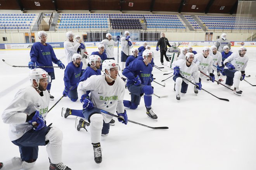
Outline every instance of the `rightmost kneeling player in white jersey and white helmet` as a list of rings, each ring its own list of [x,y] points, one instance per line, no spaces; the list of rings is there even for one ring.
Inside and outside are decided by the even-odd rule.
[[[236,95],[242,94],[242,91],[239,90],[239,83],[240,81],[244,80],[245,68],[249,60],[249,58],[245,56],[246,51],[246,47],[241,46],[238,50],[238,53],[232,53],[227,59],[223,61],[225,65],[223,72],[227,76],[226,85],[231,87],[234,82],[234,93]]]

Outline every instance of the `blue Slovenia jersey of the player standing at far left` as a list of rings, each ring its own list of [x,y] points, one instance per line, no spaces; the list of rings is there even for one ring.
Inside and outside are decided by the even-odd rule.
[[[54,53],[52,46],[45,43],[44,46],[41,42],[35,42],[30,50],[31,61],[36,63],[36,66],[53,66],[52,62],[57,63],[58,59]],[[47,73],[54,72],[54,68],[43,68]]]

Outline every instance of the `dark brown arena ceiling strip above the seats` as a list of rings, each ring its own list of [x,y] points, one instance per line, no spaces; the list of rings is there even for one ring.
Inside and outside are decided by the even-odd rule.
[[[0,0],[0,10],[118,10],[235,14],[237,0]]]

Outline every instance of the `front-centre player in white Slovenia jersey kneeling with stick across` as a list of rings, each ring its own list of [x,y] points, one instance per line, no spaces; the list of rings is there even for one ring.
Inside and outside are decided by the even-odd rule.
[[[100,112],[117,112],[118,121],[127,124],[128,118],[123,105],[125,82],[118,76],[118,63],[107,59],[102,63],[104,75],[93,75],[78,85],[78,95],[83,103],[83,116],[90,123],[83,124],[90,132],[96,163],[102,162],[100,137],[109,133],[112,116]],[[86,92],[91,91],[90,95]]]

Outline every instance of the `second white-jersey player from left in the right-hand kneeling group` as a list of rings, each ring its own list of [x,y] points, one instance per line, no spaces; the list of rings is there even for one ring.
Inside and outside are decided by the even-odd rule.
[[[209,55],[210,48],[209,47],[203,47],[203,53],[197,53],[195,54],[194,63],[198,66],[198,70],[202,73],[206,74],[207,71],[210,75],[211,81],[214,83],[215,76],[213,74],[213,57]],[[199,82],[201,82],[201,78],[204,76],[204,74],[199,75]],[[197,88],[194,88],[194,92],[198,93]]]

